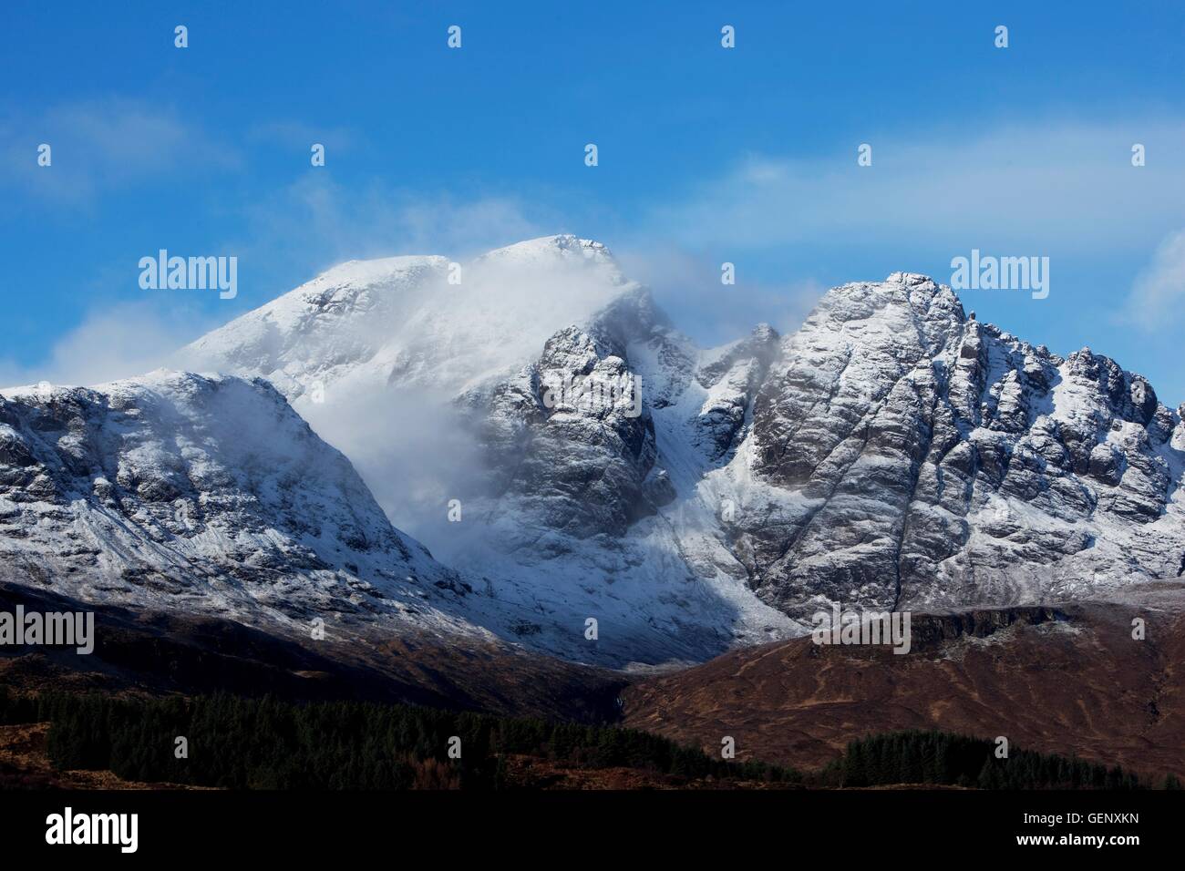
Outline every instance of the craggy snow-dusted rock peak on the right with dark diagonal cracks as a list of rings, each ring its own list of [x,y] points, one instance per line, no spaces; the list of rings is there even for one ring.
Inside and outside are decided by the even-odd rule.
[[[783,498],[752,500],[738,549],[796,615],[1172,577],[1180,428],[1144,378],[968,320],[929,278],[835,288],[755,403],[751,469]]]

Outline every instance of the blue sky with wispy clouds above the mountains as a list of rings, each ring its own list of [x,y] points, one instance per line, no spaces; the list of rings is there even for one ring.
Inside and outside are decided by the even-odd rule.
[[[1048,299],[965,305],[1185,401],[1185,5],[859,6],[11,0],[0,380],[129,374],[351,257],[575,232],[704,342],[1048,256]],[[142,290],[161,248],[237,256],[238,296]]]

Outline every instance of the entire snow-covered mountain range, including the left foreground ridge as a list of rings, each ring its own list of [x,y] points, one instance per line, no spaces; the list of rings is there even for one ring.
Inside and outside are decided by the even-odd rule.
[[[6,391],[0,546],[53,553],[51,583],[98,566],[159,603],[209,577],[212,607],[277,619],[307,588],[614,666],[798,635],[833,602],[1106,600],[1185,570],[1181,410],[921,275],[704,350],[603,245],[547,237],[344,264],[174,363],[230,374]],[[229,441],[273,418],[283,437]],[[124,578],[145,565],[161,593]]]

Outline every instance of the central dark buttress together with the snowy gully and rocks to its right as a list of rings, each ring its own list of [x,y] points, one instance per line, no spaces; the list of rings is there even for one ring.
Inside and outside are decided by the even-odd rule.
[[[489,451],[502,511],[513,501],[526,524],[611,543],[680,495],[667,468],[680,454],[693,460],[693,476],[731,456],[777,351],[777,333],[761,325],[703,360],[635,288],[462,404]],[[574,390],[582,383],[584,392]],[[666,451],[655,416],[667,424]]]

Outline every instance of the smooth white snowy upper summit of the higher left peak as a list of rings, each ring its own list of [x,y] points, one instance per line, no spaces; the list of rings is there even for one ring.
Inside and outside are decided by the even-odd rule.
[[[537,354],[555,327],[630,287],[598,243],[552,237],[447,257],[351,261],[184,348],[186,369],[251,374],[320,403],[387,385],[460,392]]]

